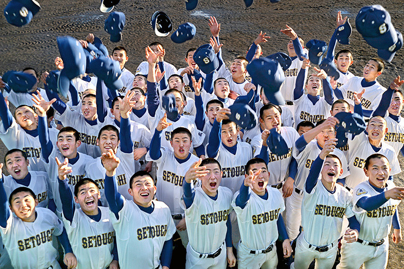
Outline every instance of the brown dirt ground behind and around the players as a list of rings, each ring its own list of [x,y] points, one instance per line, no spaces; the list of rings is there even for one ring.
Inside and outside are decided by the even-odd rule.
[[[0,0],[3,10],[7,0]],[[256,0],[248,9],[242,0],[200,0],[193,11],[185,9],[183,0],[121,0],[114,11],[125,13],[126,25],[123,38],[118,43],[109,40],[104,31],[104,21],[108,14],[99,11],[99,0],[81,1],[39,1],[41,11],[35,15],[31,23],[18,28],[6,22],[3,12],[0,14],[0,73],[8,70],[22,70],[34,67],[39,73],[55,69],[54,59],[59,56],[56,37],[71,35],[84,39],[91,32],[101,38],[107,48],[124,46],[128,50],[129,62],[126,68],[133,73],[137,65],[144,60],[144,47],[150,42],[160,41],[166,50],[165,61],[177,68],[185,67],[185,53],[189,48],[197,48],[209,41],[209,16],[216,16],[221,23],[220,40],[223,58],[226,62],[234,57],[245,56],[248,45],[255,39],[260,30],[271,36],[269,42],[263,44],[264,56],[275,52],[287,52],[288,37],[279,30],[285,24],[291,26],[305,42],[316,38],[328,43],[335,29],[335,19],[338,10],[343,16],[348,16],[354,31],[350,44],[337,44],[336,51],[346,48],[354,55],[354,65],[350,71],[361,75],[363,66],[370,57],[377,56],[376,49],[371,48],[355,29],[355,17],[361,7],[376,4],[364,0],[351,1],[298,1],[281,0],[273,4],[269,0]],[[386,8],[397,30],[404,31],[404,6],[402,0],[379,1]],[[196,26],[195,37],[185,43],[175,44],[170,37],[157,37],[149,21],[155,11],[166,12],[176,29],[180,24],[191,22]],[[392,63],[386,63],[386,69],[379,77],[379,82],[388,87],[390,81],[397,75],[404,75],[404,50],[399,51]],[[41,85],[39,85],[41,86]],[[3,159],[7,149],[0,145],[0,158]],[[404,160],[400,156],[401,168]],[[403,174],[395,176],[395,184],[404,186]],[[399,206],[401,215],[404,205]],[[404,219],[402,217],[401,219]],[[401,225],[404,221],[401,220]],[[388,268],[404,267],[404,243],[395,245],[390,240],[390,255]]]

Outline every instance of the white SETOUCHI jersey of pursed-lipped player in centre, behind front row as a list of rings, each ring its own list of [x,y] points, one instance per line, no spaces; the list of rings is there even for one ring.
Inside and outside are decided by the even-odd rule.
[[[180,206],[180,200],[183,194],[182,183],[184,176],[192,163],[199,158],[189,153],[189,159],[179,163],[174,157],[172,148],[161,147],[160,151],[161,157],[157,160],[151,159],[149,152],[146,154],[146,161],[156,162],[158,167],[156,198],[170,208],[171,214],[182,214],[184,210]]]

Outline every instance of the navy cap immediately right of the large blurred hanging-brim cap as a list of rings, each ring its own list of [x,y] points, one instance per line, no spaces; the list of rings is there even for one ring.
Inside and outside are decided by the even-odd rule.
[[[107,57],[99,57],[91,61],[89,69],[98,79],[103,80],[110,90],[123,87],[122,70],[117,61]]]

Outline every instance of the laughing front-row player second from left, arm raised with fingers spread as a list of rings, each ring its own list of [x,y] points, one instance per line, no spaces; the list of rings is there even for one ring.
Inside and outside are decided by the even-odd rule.
[[[72,171],[68,159],[58,164],[59,193],[63,201],[63,222],[77,258],[77,268],[118,269],[115,231],[108,207],[98,206],[101,198],[97,184],[81,178],[74,186],[74,198],[67,175]],[[80,205],[75,207],[74,200]]]

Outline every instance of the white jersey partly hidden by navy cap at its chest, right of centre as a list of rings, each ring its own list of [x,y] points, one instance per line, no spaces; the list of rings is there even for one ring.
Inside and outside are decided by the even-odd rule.
[[[293,127],[281,126],[280,132],[282,138],[285,140],[287,144],[288,153],[285,155],[278,156],[275,153],[271,152],[271,150],[268,148],[268,154],[269,154],[268,171],[270,171],[268,181],[269,185],[276,185],[285,180],[286,175],[288,174],[290,161],[292,160],[294,143],[299,138],[299,133]],[[262,142],[263,141],[261,138],[261,134],[252,139],[251,147],[254,156],[258,156],[260,154],[262,148]]]

